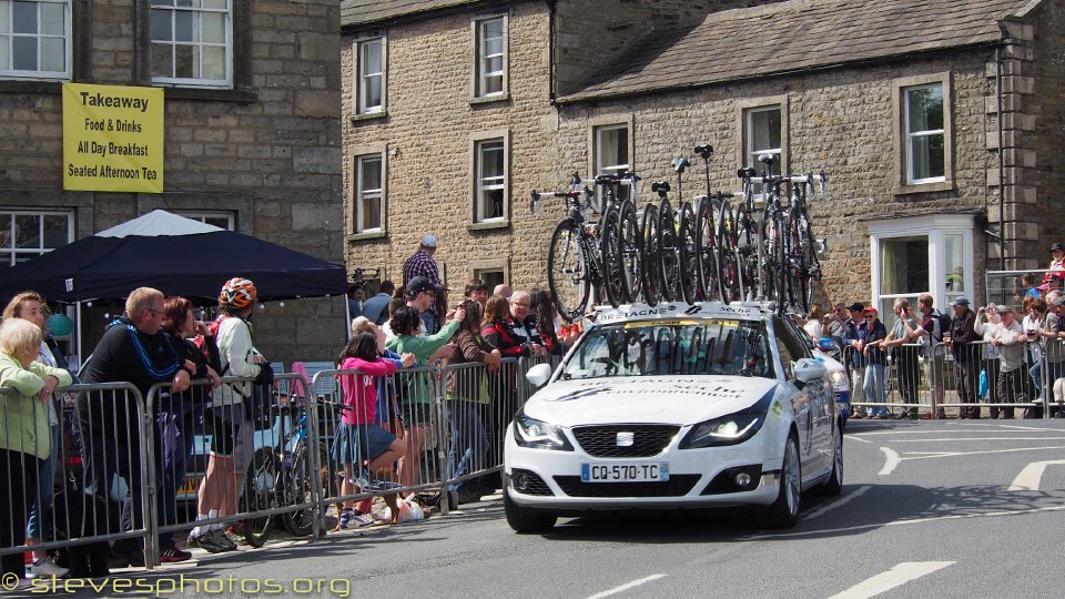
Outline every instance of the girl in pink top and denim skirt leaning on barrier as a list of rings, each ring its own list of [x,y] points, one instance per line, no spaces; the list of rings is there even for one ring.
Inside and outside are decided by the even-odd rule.
[[[368,491],[369,473],[395,463],[405,453],[402,440],[373,423],[377,410],[377,378],[393,375],[398,368],[409,366],[414,363],[414,356],[406,355],[402,359],[382,358],[378,346],[383,345],[383,334],[363,332],[352,337],[337,358],[342,370],[362,373],[339,377],[344,404],[351,407],[344,410],[333,439],[333,459],[344,466],[342,496],[354,495],[355,486],[359,487],[359,493]],[[344,501],[341,528],[352,526],[354,504],[353,500]]]

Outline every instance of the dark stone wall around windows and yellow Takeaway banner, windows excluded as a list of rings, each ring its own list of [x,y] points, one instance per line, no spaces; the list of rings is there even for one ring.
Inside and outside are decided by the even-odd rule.
[[[146,2],[75,4],[75,22],[89,29],[74,35],[74,81],[143,81],[134,34],[146,20],[135,6]],[[60,83],[0,81],[0,134],[13,140],[0,148],[0,205],[74,209],[78,236],[155,207],[232,210],[242,232],[341,262],[339,1],[236,4],[250,11],[251,30],[235,34],[237,44],[250,42],[245,83],[168,89],[165,193],[64,192]],[[343,343],[343,314],[336,298],[268,304],[256,314],[256,342],[274,361],[329,359]],[[102,309],[95,316],[99,329]],[[85,341],[91,347],[94,339]]]

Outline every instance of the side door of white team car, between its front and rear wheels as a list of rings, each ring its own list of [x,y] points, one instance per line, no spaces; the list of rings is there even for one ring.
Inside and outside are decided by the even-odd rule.
[[[775,318],[777,338],[787,348],[792,361],[812,358],[810,348],[802,342],[800,335],[805,333],[791,321]],[[783,351],[781,359],[783,359]],[[825,378],[811,382],[800,392],[804,418],[799,423],[800,449],[804,455],[804,474],[813,474],[831,466],[831,414],[832,389]],[[805,426],[805,429],[802,427]]]

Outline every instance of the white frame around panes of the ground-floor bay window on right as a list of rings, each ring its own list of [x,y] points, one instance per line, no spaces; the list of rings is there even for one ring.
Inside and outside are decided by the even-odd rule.
[[[950,303],[958,296],[965,296],[972,302],[975,300],[975,264],[973,261],[973,231],[975,222],[972,214],[937,214],[927,216],[909,216],[904,219],[885,219],[869,221],[869,243],[871,256],[871,291],[872,305],[880,306],[885,300],[895,297],[913,298],[919,292],[905,294],[881,293],[881,242],[893,237],[929,238],[929,287],[927,293],[934,298],[934,307],[950,314]],[[968,282],[964,292],[952,292],[946,288],[947,275],[952,274],[946,264],[947,235],[961,235],[962,246],[968,248],[962,255],[962,277]],[[883,319],[883,316],[881,317]],[[888,322],[885,321],[885,324]]]

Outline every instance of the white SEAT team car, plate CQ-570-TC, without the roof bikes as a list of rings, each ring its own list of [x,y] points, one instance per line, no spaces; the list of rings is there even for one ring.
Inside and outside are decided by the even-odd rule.
[[[601,311],[516,414],[504,506],[518,532],[601,509],[755,506],[793,525],[843,486],[843,420],[823,364],[758,304]]]

